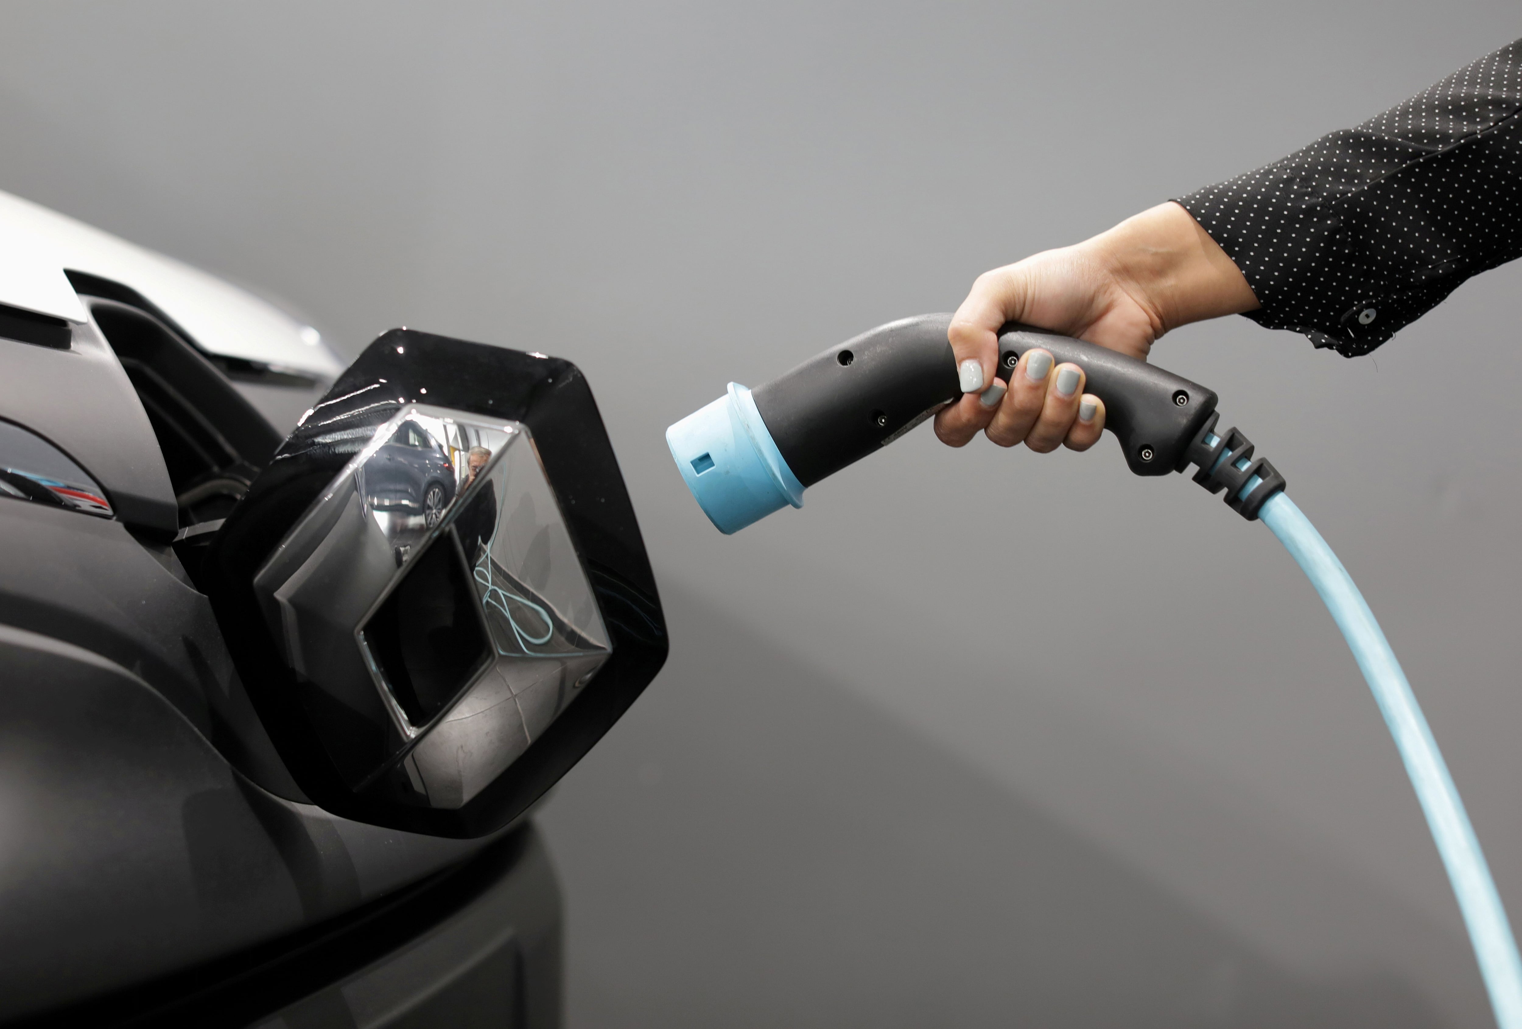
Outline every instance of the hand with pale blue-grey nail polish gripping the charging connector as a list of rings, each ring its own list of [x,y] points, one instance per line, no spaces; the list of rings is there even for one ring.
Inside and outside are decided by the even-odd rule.
[[[1087,451],[1105,428],[1105,403],[1084,393],[1084,370],[1052,367],[1027,350],[994,378],[998,329],[1009,321],[1078,336],[1146,359],[1169,329],[1254,311],[1237,266],[1178,204],[1160,204],[1076,247],[1049,250],[986,271],[951,318],[951,350],[963,396],[936,416],[936,435],[965,446],[979,431],[1000,446],[1024,441],[1046,454]]]

